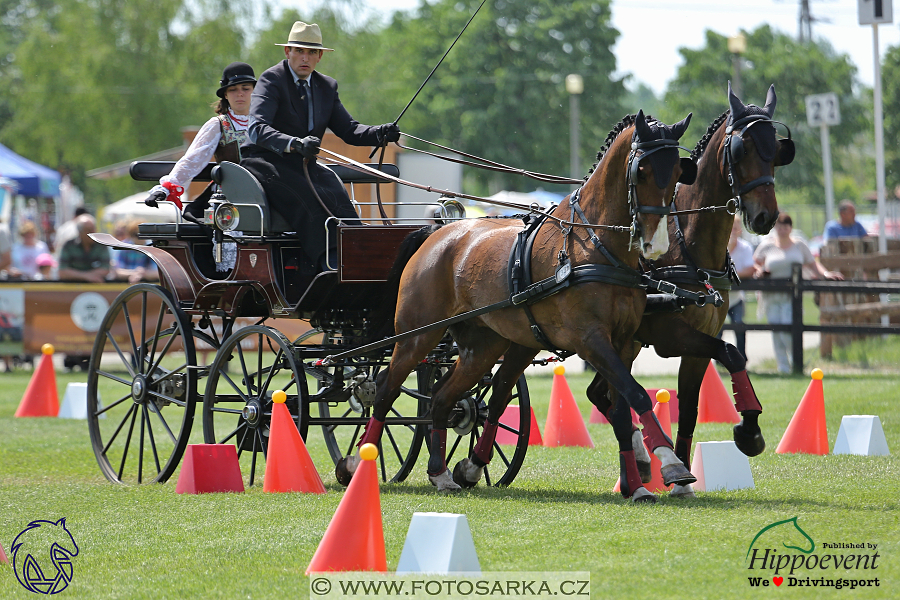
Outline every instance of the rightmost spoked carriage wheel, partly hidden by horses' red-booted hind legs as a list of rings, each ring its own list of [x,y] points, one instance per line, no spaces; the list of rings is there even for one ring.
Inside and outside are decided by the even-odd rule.
[[[430,381],[440,379],[443,369],[434,369]],[[487,419],[487,402],[491,393],[491,376],[485,377],[456,403],[450,414],[447,427],[447,466],[452,471],[460,460],[471,456],[475,444],[484,430]],[[487,485],[505,487],[513,482],[525,454],[528,452],[528,439],[531,433],[531,399],[528,395],[528,384],[525,376],[520,375],[512,389],[511,399],[507,405],[507,414],[515,414],[518,408],[518,420],[502,419],[497,428],[497,438],[493,445],[491,463],[484,468],[484,482]],[[510,410],[513,409],[513,410]],[[430,438],[425,438],[429,447]]]

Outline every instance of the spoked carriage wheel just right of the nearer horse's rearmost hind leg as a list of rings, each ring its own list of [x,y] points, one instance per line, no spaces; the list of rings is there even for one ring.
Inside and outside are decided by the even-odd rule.
[[[375,396],[375,377],[385,368],[374,366],[310,367],[307,373],[318,382],[319,393],[331,389],[336,392],[336,369],[343,370],[344,391],[338,398],[317,402],[319,417],[334,419],[322,425],[325,445],[335,465],[343,457],[356,452],[356,446],[365,431],[365,423],[372,416],[372,400]],[[417,375],[418,378],[422,374]],[[418,385],[416,387],[420,387]],[[323,398],[327,398],[323,395]],[[417,389],[401,388],[400,397],[394,402],[385,418],[384,431],[378,443],[378,471],[381,480],[396,483],[403,481],[412,471],[419,457],[426,425],[415,423],[416,417],[425,413],[427,396]]]

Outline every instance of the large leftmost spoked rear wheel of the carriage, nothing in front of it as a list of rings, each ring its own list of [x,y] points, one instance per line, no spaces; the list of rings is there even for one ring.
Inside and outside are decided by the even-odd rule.
[[[115,483],[166,481],[181,461],[196,403],[190,320],[171,294],[134,285],[113,301],[88,367],[91,446]]]

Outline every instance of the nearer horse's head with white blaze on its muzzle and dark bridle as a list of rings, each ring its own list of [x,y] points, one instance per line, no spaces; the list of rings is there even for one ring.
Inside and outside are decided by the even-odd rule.
[[[659,226],[669,214],[677,182],[691,184],[697,167],[679,158],[678,140],[687,131],[691,114],[674,125],[647,119],[639,111],[634,121],[631,152],[626,169],[632,238],[639,236],[644,258],[655,260],[669,249],[669,230]]]

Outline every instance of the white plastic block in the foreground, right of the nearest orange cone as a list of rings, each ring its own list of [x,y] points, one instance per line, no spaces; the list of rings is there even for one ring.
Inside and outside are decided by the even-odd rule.
[[[397,575],[481,574],[466,515],[413,513]]]

